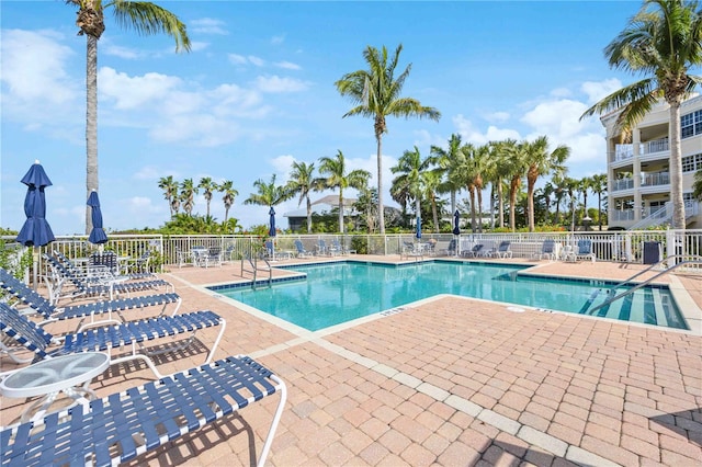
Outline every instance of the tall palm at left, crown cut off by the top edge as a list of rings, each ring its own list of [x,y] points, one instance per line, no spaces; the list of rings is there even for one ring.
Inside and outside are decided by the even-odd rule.
[[[86,36],[86,187],[88,195],[98,190],[98,39],[105,31],[104,11],[111,8],[115,21],[140,35],[167,34],[176,39],[176,52],[190,50],[190,38],[183,24],[170,11],[148,1],[66,0],[78,9],[78,35]],[[86,207],[86,234],[92,229],[91,209]]]

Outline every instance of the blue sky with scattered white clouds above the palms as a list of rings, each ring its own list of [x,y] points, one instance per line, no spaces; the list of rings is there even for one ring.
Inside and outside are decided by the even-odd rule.
[[[191,53],[176,54],[167,36],[120,29],[110,11],[99,42],[100,198],[112,230],[163,225],[158,180],[167,175],[231,180],[239,196],[229,215],[244,227],[268,220],[267,207],[242,203],[252,182],[272,174],[284,182],[293,161],[340,149],[375,184],[373,122],[342,118],[352,104],[333,86],[365,68],[367,45],[401,43],[400,68],[412,64],[404,95],[442,113],[439,123],[388,121],[385,189],[405,150],[427,156],[453,133],[474,144],[547,135],[571,148],[570,176],[604,172],[602,125],[578,118],[635,79],[611,70],[602,49],[638,1],[157,3],[188,25]],[[83,232],[86,42],[75,9],[3,0],[0,14],[0,226],[21,228],[20,179],[38,159],[54,183],[46,192],[54,232]],[[218,220],[220,198],[215,193],[211,206]],[[205,209],[200,195],[194,213]],[[276,207],[294,209],[297,200]]]

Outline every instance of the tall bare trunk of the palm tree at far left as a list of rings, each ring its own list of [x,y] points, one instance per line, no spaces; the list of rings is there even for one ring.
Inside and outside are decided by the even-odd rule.
[[[98,191],[98,39],[86,34],[86,200]],[[92,230],[90,206],[86,206],[86,234]]]

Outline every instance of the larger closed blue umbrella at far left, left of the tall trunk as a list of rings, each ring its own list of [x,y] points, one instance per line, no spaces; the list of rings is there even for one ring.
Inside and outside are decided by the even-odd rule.
[[[25,247],[43,247],[56,240],[52,227],[46,221],[46,198],[44,195],[44,189],[50,186],[52,181],[37,160],[22,178],[21,182],[27,186],[26,196],[24,197],[26,220],[16,240]]]

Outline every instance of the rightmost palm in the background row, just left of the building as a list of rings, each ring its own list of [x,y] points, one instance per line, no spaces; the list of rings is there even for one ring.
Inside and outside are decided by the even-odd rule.
[[[570,148],[558,146],[548,152],[548,138],[540,136],[533,143],[524,145],[524,157],[526,158],[526,206],[529,210],[529,231],[534,231],[534,186],[539,176],[546,173],[565,173],[565,161],[570,156]]]

